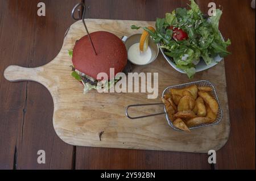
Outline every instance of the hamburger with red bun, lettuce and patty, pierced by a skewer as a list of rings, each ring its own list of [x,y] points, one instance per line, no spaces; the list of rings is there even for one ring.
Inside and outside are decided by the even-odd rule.
[[[122,72],[127,64],[127,50],[122,40],[113,33],[97,31],[90,33],[97,54],[94,53],[89,36],[86,35],[76,41],[73,50],[69,50],[72,56],[72,76],[84,85],[84,93],[92,89],[108,89],[118,79],[110,79],[110,68],[114,68],[115,74]],[[99,73],[106,73],[108,80],[97,79]],[[101,86],[98,86],[98,82]]]

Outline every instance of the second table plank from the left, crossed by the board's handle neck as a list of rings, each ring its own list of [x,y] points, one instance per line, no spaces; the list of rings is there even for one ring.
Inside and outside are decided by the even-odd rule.
[[[45,17],[36,15],[38,9],[36,5],[42,1],[28,2],[32,9],[28,17],[33,21],[31,24],[33,33],[30,35],[33,41],[31,41],[28,67],[36,67],[46,64],[59,52],[63,35],[69,24],[73,22],[70,12],[79,1],[43,1],[46,3]],[[19,141],[16,169],[73,168],[75,148],[65,144],[56,136],[51,121],[52,110],[53,102],[47,89],[38,83],[28,82],[25,121]],[[37,163],[38,155],[35,153],[38,150],[46,151],[46,164]]]

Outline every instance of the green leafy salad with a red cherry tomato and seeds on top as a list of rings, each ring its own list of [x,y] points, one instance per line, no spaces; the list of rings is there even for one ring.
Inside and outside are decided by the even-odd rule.
[[[144,27],[155,43],[160,43],[164,53],[171,57],[177,68],[185,71],[189,78],[196,73],[195,66],[203,58],[205,64],[214,63],[214,57],[226,57],[231,41],[224,41],[218,30],[222,11],[217,9],[216,16],[205,16],[194,0],[191,9],[177,8],[166,14],[166,18],[156,19],[156,31]],[[133,29],[140,27],[131,26]]]

